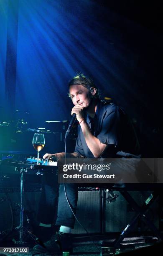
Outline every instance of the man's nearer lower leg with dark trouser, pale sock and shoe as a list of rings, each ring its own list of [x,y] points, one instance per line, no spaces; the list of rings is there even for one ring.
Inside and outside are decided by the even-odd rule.
[[[65,184],[66,195],[69,200],[69,204],[74,213],[76,213],[77,197],[78,197],[78,184]],[[71,228],[74,228],[75,218],[66,200],[64,184],[60,184],[59,188],[59,204],[58,204],[58,216],[56,225],[60,225],[61,228],[56,235],[51,237],[51,240],[44,243],[46,249],[49,252],[61,253],[61,251],[72,251],[72,234]],[[46,251],[41,246],[35,246],[35,251]]]

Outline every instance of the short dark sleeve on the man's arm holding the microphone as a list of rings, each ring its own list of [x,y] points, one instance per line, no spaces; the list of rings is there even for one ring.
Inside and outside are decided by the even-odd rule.
[[[104,112],[100,133],[97,138],[101,143],[119,145],[120,142],[120,109],[113,106]]]

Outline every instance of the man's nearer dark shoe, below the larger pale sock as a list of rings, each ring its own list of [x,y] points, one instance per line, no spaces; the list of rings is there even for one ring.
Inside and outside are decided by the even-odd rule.
[[[51,240],[43,244],[43,246],[36,245],[33,250],[37,253],[51,252],[61,254],[63,251],[72,253],[72,234],[56,232],[56,235],[51,237]]]

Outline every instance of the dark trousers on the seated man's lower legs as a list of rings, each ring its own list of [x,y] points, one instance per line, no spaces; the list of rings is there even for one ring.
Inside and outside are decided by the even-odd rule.
[[[69,204],[76,212],[78,184],[66,183]],[[55,174],[43,174],[41,197],[38,206],[38,221],[44,224],[56,223],[74,228],[75,218],[66,200],[64,184],[58,184]]]

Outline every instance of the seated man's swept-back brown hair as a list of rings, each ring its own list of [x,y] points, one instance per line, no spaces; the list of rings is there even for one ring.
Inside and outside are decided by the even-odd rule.
[[[91,92],[91,87],[96,89],[96,94],[92,96],[92,98],[99,99],[99,88],[94,84],[93,80],[89,77],[84,76],[84,74],[77,74],[69,81],[69,88],[71,85],[81,84],[86,87]],[[69,95],[69,97],[71,97]]]

